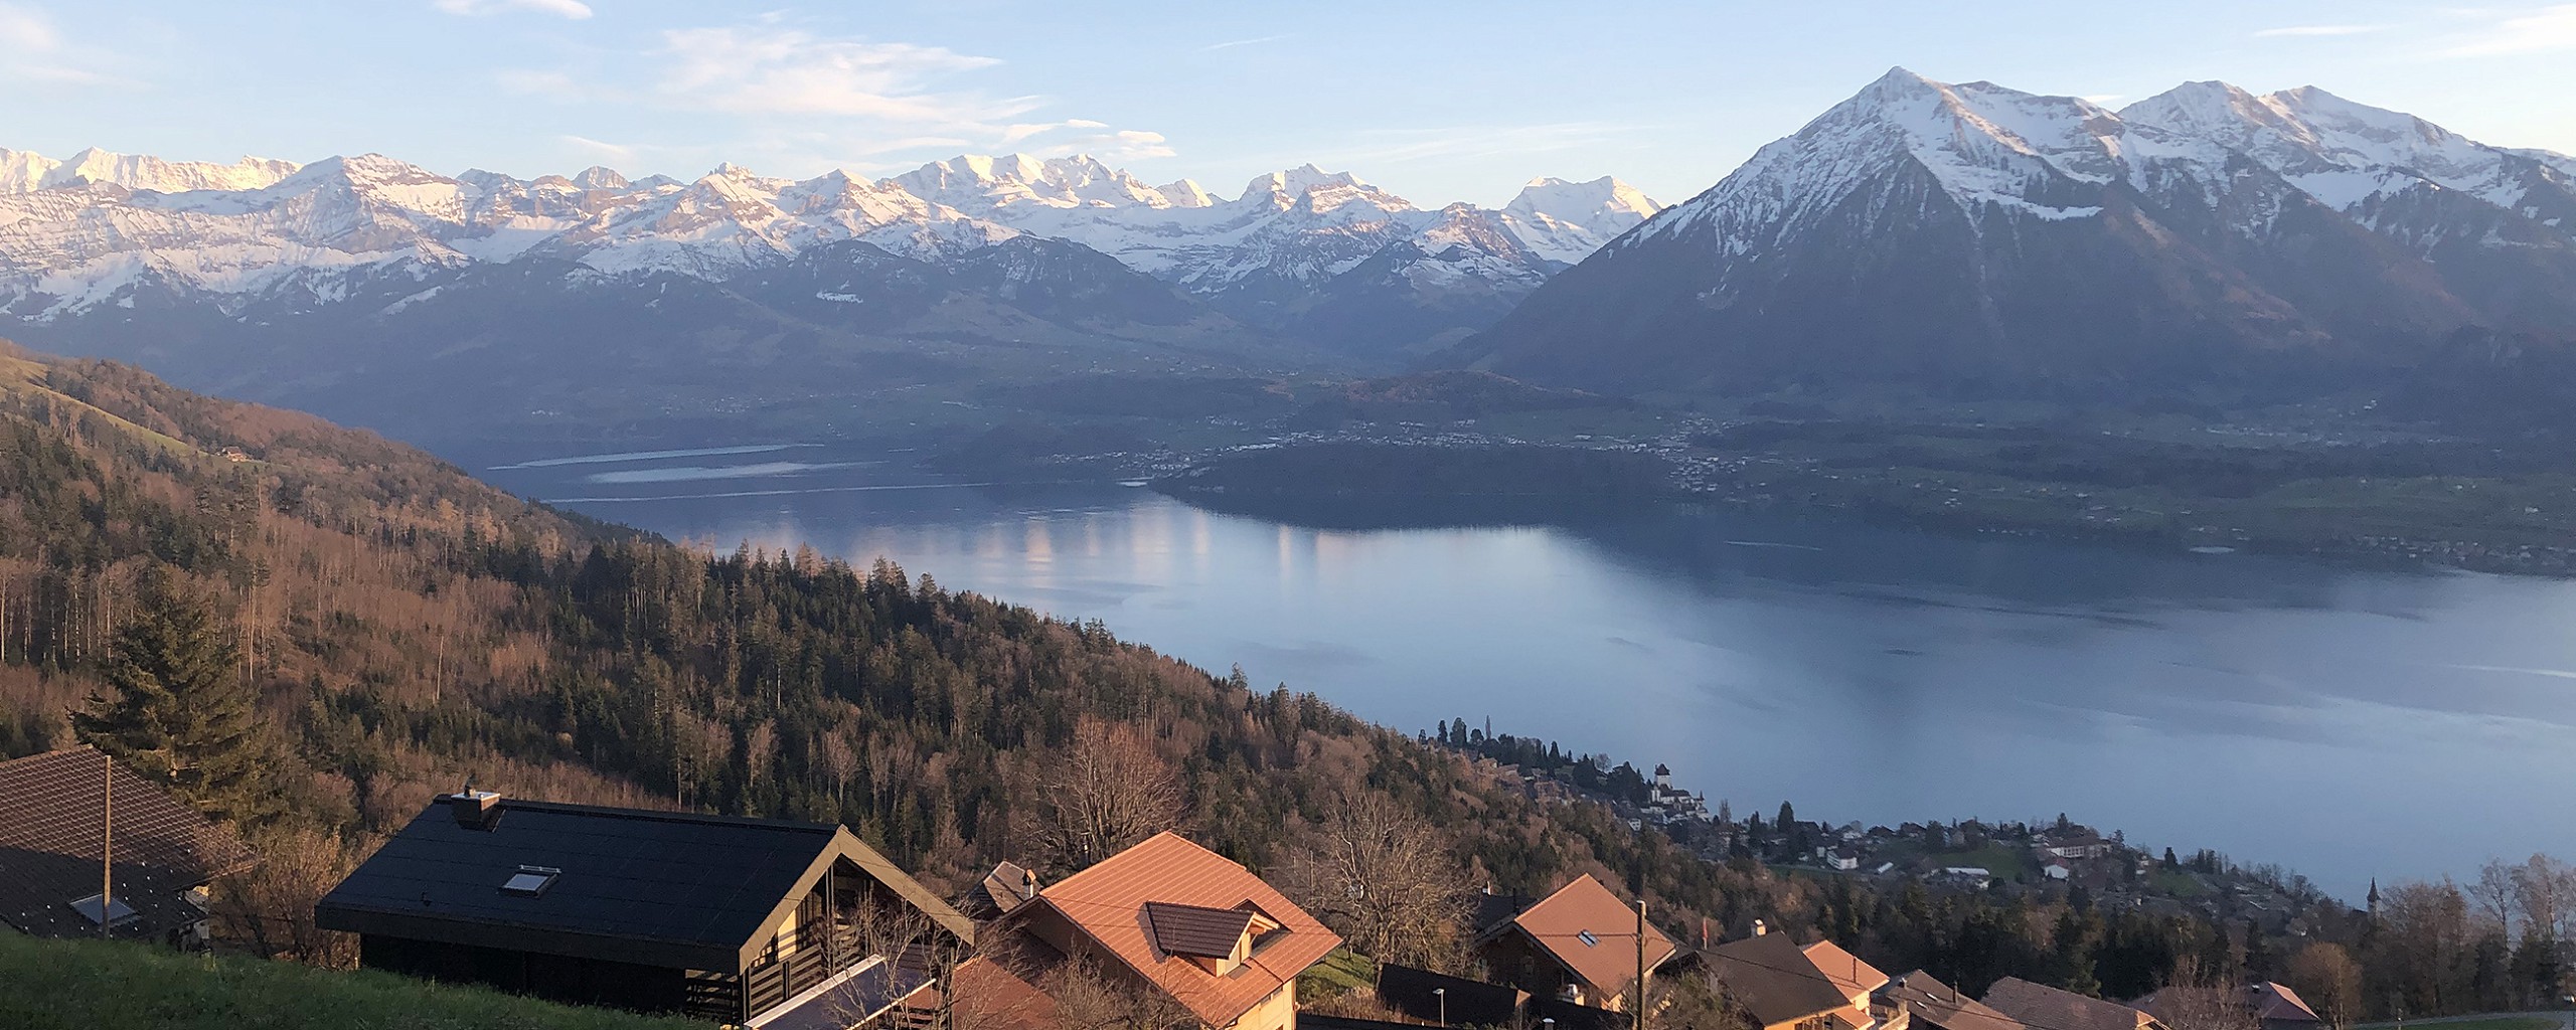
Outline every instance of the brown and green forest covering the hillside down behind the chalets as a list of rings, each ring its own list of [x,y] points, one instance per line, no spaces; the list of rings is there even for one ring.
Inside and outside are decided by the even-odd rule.
[[[1708,860],[1502,762],[1577,762],[1553,744],[1497,760],[891,564],[685,548],[368,433],[8,355],[0,757],[72,742],[234,821],[265,860],[222,894],[227,937],[322,963],[348,945],[309,927],[312,899],[469,778],[835,819],[948,888],[1005,857],[1064,873],[1162,824],[1298,883],[1298,855],[1368,809],[1430,834],[1443,904],[1406,914],[1430,924],[1337,930],[1427,966],[1461,963],[1471,894],[1595,873],[1674,930],[1765,919],[1968,991],[2022,976],[2133,997],[2190,960],[2357,1020],[2522,1004],[2555,981],[2540,955],[2561,922],[2486,919],[2476,891],[2419,883],[2393,888],[2391,919],[2269,937],[2081,894],[1875,891]],[[1154,827],[1056,811],[1097,783],[1144,788]],[[1643,783],[1623,767],[1605,788]]]

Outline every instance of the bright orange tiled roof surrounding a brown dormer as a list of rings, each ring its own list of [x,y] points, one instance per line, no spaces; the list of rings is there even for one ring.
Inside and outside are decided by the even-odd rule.
[[[1342,937],[1260,876],[1172,832],[1066,876],[1038,891],[1038,901],[1211,1027],[1234,1022],[1342,945]],[[1198,909],[1234,909],[1249,901],[1275,919],[1280,932],[1255,948],[1242,968],[1216,976],[1154,945],[1146,906],[1157,901]]]

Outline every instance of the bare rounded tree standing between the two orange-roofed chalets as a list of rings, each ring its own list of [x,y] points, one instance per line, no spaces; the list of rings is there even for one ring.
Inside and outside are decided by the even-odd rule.
[[[1355,950],[1381,963],[1458,966],[1466,868],[1427,821],[1383,793],[1352,793],[1285,850],[1288,896]]]

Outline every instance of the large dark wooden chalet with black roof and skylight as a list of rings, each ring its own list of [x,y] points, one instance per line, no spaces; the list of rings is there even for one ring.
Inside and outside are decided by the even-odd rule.
[[[974,924],[845,827],[440,796],[314,906],[366,968],[760,1030],[922,991]]]

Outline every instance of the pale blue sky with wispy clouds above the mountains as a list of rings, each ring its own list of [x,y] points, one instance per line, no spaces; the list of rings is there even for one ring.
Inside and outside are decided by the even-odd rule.
[[[0,147],[440,173],[889,175],[1092,152],[1231,196],[1319,162],[1417,203],[1662,201],[1891,64],[2125,103],[2321,85],[2576,152],[2576,3],[0,0]]]

